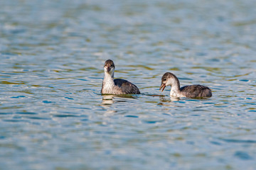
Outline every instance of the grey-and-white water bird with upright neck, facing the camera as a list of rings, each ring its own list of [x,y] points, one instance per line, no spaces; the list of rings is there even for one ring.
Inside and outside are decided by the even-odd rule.
[[[114,79],[114,62],[107,60],[104,65],[105,76],[102,82],[102,94],[140,94],[137,86],[124,79]]]

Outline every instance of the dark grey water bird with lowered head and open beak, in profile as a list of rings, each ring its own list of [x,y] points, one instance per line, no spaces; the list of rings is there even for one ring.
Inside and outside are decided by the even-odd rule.
[[[170,96],[174,97],[209,98],[212,96],[212,92],[208,86],[196,84],[180,88],[178,78],[170,72],[166,72],[161,78],[161,86],[159,90],[162,89],[162,91],[164,91],[166,86],[171,86]]]

